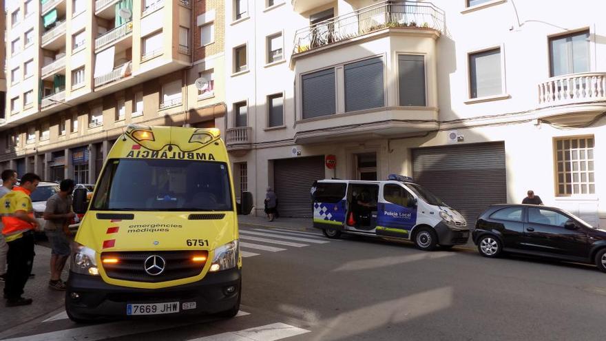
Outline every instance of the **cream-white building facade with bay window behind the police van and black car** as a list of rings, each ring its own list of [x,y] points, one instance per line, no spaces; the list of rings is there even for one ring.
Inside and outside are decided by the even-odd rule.
[[[258,214],[270,186],[282,215],[310,216],[313,180],[405,174],[471,225],[533,189],[605,227],[605,9],[227,1],[226,140],[247,172],[236,184]]]

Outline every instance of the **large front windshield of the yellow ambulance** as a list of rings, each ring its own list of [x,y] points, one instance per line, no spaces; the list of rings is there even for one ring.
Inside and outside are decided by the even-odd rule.
[[[225,163],[162,159],[109,161],[93,209],[111,211],[230,211]]]

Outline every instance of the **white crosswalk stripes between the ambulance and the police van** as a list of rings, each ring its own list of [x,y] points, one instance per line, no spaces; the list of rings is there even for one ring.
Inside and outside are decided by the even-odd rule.
[[[293,229],[240,228],[240,254],[244,258],[260,256],[262,251],[281,252],[287,251],[286,247],[309,247],[328,242],[330,241],[320,233]]]

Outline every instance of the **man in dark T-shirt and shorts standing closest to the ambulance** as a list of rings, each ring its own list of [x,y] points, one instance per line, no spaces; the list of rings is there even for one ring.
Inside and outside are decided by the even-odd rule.
[[[70,221],[75,216],[72,211],[72,192],[74,192],[75,185],[72,179],[61,181],[59,185],[61,192],[53,194],[46,201],[44,231],[52,249],[48,287],[54,290],[65,290],[61,272],[72,252],[68,237],[70,236]]]

